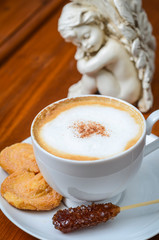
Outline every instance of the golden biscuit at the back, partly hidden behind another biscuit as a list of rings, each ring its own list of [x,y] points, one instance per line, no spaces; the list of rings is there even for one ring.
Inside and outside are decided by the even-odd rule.
[[[34,173],[40,172],[33,147],[28,143],[16,143],[3,149],[0,153],[0,166],[9,174],[21,169]]]

